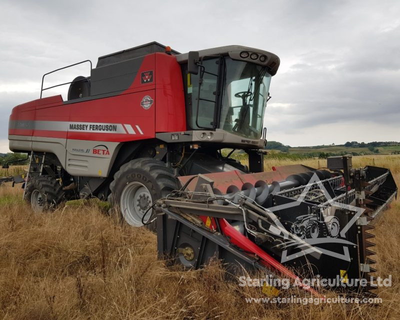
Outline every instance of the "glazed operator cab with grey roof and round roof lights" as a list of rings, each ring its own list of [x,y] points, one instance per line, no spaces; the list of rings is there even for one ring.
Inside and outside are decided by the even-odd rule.
[[[260,139],[270,79],[279,67],[275,54],[231,45],[178,54],[176,60],[182,68],[188,129]]]

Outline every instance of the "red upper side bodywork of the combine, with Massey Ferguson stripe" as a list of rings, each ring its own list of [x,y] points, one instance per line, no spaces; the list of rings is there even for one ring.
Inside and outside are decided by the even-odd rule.
[[[141,83],[141,72],[149,70],[153,71],[153,81]],[[141,102],[147,95],[152,103],[144,108]],[[8,134],[65,139],[123,142],[153,138],[156,132],[183,131],[186,121],[181,69],[173,55],[148,54],[129,88],[117,95],[74,103],[65,103],[60,95],[45,97],[14,107],[9,119],[36,122],[33,127],[10,127]],[[76,122],[118,124],[121,129],[118,133],[69,130],[68,124]],[[46,125],[41,127],[42,123]]]

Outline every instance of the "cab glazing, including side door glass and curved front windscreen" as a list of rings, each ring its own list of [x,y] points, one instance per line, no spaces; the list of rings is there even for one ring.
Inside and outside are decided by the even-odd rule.
[[[220,64],[223,67],[218,68]],[[200,74],[187,73],[187,65],[183,69],[188,127],[194,130],[219,127],[259,139],[271,78],[265,67],[228,56],[204,59],[202,65],[200,91]]]

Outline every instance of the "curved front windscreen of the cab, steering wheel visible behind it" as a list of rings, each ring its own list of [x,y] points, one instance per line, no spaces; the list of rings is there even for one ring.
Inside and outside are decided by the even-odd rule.
[[[220,128],[248,138],[261,136],[271,76],[265,67],[225,57]]]

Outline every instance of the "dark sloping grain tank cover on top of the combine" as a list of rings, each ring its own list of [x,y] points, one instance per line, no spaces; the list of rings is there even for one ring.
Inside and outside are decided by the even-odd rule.
[[[124,60],[136,58],[154,52],[165,52],[165,45],[153,41],[142,45],[134,46],[130,49],[125,49],[122,51],[106,54],[98,58],[96,67],[116,62],[121,62]],[[171,53],[179,54],[179,52],[175,50],[171,50]]]

